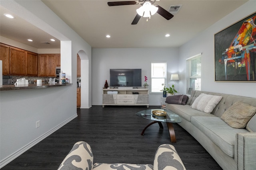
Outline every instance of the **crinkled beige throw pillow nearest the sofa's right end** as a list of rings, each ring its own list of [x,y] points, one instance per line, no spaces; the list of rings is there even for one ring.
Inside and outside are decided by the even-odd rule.
[[[233,128],[245,128],[255,113],[256,107],[243,102],[236,102],[228,107],[220,118]]]

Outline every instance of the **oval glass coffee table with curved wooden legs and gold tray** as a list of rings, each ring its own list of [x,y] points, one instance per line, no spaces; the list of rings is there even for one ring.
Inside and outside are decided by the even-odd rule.
[[[153,114],[154,113],[154,114]],[[171,143],[176,143],[176,137],[174,128],[172,126],[172,123],[180,123],[181,118],[179,115],[174,113],[173,111],[170,111],[168,109],[148,109],[148,110],[142,110],[136,113],[137,116],[142,117],[144,119],[152,120],[153,122],[148,124],[142,131],[141,135],[144,135],[144,132],[146,129],[153,125],[154,123],[158,123],[160,128],[163,128],[162,122],[166,122],[169,134],[170,134],[170,140]]]

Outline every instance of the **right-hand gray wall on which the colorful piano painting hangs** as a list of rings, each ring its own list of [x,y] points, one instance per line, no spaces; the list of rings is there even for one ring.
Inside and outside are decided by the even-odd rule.
[[[197,35],[194,39],[182,45],[179,50],[179,81],[180,91],[186,91],[186,58],[202,53],[202,84],[201,90],[220,92],[256,98],[255,82],[215,82],[214,68],[214,34],[230,25],[250,16],[255,12],[256,1],[250,0],[234,12],[228,14],[214,25]],[[231,43],[231,42],[230,42]]]

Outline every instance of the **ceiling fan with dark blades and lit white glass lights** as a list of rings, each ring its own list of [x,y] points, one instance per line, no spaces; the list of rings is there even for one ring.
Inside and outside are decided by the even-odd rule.
[[[164,17],[166,20],[170,20],[173,17],[173,15],[170,12],[166,11],[164,8],[160,7],[158,4],[153,5],[155,2],[156,0],[116,1],[116,2],[108,2],[108,6],[138,5],[138,4],[142,5],[140,8],[136,10],[137,15],[132,21],[132,25],[137,24],[142,16],[150,18],[150,16],[154,15],[156,12],[160,14],[162,17]],[[146,9],[147,7],[148,9]]]

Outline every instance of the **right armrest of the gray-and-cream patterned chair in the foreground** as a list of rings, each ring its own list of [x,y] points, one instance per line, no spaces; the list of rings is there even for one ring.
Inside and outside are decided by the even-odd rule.
[[[186,170],[174,146],[160,145],[154,158],[154,170]]]

